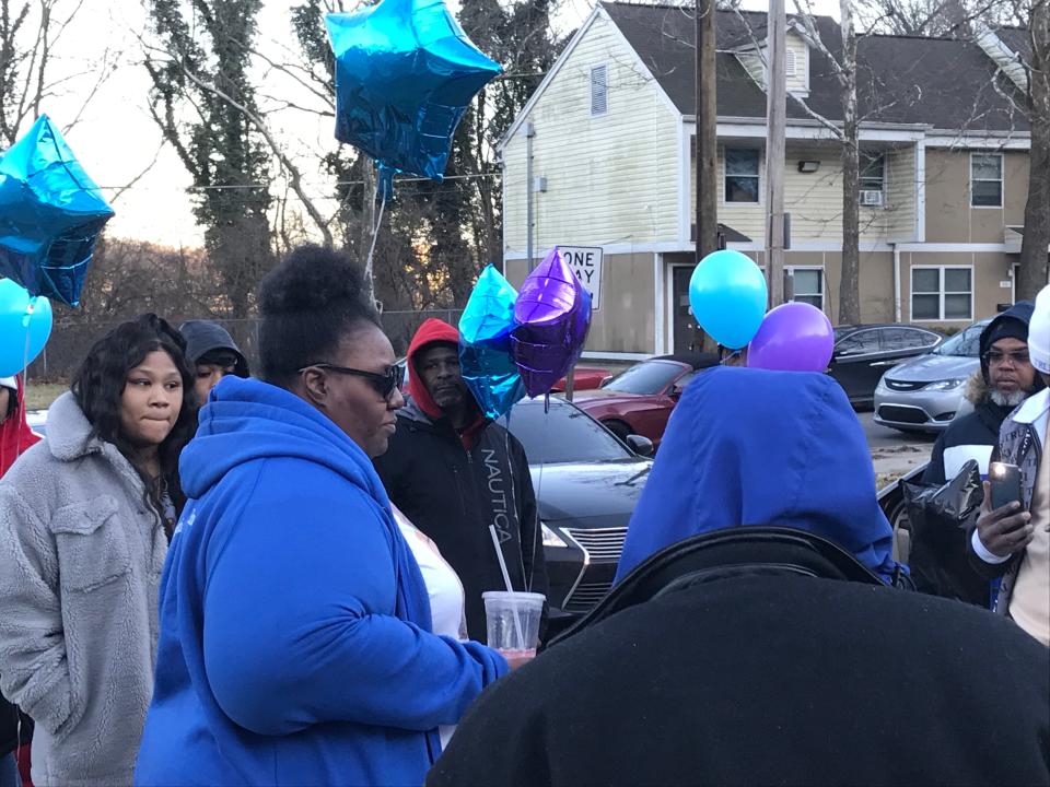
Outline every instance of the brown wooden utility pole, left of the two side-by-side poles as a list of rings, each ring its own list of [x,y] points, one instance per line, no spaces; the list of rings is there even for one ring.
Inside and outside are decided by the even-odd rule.
[[[697,0],[697,262],[719,247],[714,2]]]

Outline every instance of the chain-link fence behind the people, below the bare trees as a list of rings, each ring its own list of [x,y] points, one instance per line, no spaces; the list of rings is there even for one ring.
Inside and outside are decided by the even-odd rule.
[[[408,351],[412,336],[424,320],[435,317],[450,325],[457,326],[463,309],[435,309],[425,312],[385,312],[382,317],[383,330],[394,345],[398,357]],[[185,319],[171,319],[176,327]],[[106,322],[88,322],[78,325],[58,325],[51,331],[44,352],[30,365],[28,379],[36,381],[66,381],[72,377],[77,367],[88,355],[92,345],[118,326],[122,320]],[[215,322],[225,328],[233,340],[241,348],[241,352],[248,359],[253,369],[259,367],[259,325],[258,317],[249,319],[215,319]]]

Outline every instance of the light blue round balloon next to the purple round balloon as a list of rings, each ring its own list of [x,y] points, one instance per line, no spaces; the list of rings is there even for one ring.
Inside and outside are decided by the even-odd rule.
[[[700,327],[733,350],[747,346],[758,333],[768,295],[762,269],[731,249],[709,254],[689,280],[689,305]]]

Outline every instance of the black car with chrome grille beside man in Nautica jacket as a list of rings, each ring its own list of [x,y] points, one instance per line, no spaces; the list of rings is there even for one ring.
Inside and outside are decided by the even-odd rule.
[[[544,532],[549,601],[573,616],[608,592],[649,478],[649,441],[622,443],[574,404],[525,399],[510,430],[525,447]]]

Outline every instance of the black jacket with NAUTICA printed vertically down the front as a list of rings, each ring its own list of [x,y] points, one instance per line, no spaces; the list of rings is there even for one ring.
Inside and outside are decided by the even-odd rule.
[[[431,420],[413,402],[375,469],[394,504],[433,539],[459,575],[467,631],[485,642],[486,590],[504,590],[489,525],[495,525],[515,590],[547,592],[536,495],[522,444],[488,423],[464,446],[447,419]]]

